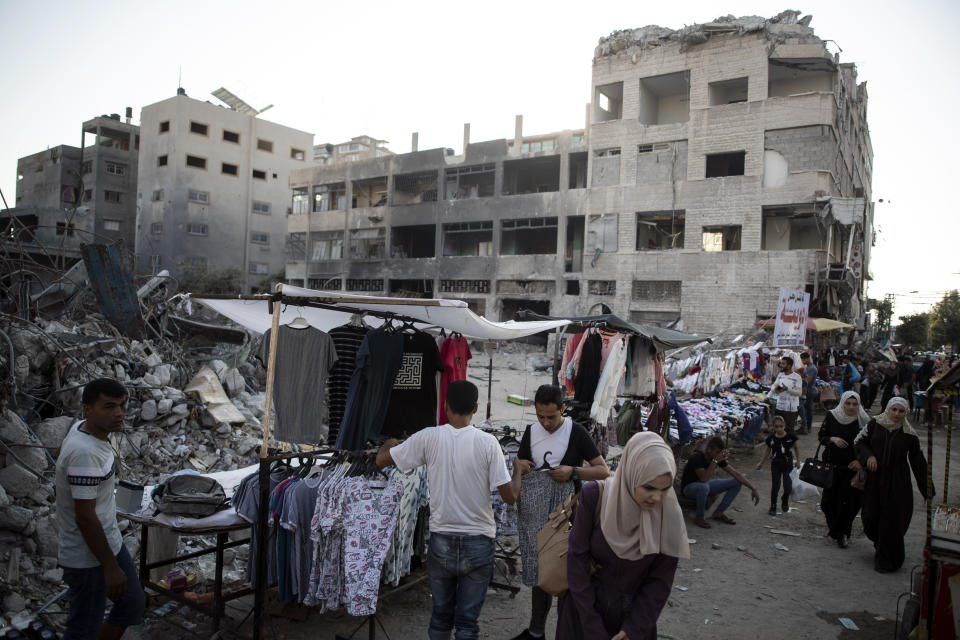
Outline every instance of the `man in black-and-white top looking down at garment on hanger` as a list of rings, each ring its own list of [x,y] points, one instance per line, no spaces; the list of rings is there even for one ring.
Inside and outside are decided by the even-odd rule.
[[[553,596],[537,586],[537,533],[550,519],[550,512],[580,490],[581,480],[603,480],[610,475],[587,430],[563,416],[563,389],[542,385],[533,406],[537,422],[524,431],[513,461],[514,473],[519,468],[522,475],[517,530],[523,583],[533,590],[530,625],[513,640],[542,638],[553,604]],[[589,466],[584,467],[584,462]]]

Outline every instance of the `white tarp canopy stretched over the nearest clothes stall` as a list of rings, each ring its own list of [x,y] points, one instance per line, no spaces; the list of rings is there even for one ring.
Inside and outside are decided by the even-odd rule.
[[[458,331],[468,338],[481,340],[513,340],[525,336],[550,331],[570,324],[569,320],[540,320],[533,322],[491,322],[478,316],[467,308],[462,300],[384,298],[373,296],[344,295],[330,291],[315,291],[292,285],[281,285],[280,324],[287,324],[294,318],[302,317],[311,326],[321,331],[330,331],[350,321],[357,311],[371,311],[405,316],[419,321],[421,328],[440,327],[447,331]],[[344,307],[344,311],[311,307],[305,304],[297,306],[296,298],[324,298],[344,300],[335,303]],[[198,296],[191,298],[217,313],[255,333],[265,333],[270,328],[273,317],[267,310],[266,300],[213,299]],[[413,303],[413,304],[411,304]],[[334,304],[334,303],[331,303]],[[368,317],[367,323],[379,326],[382,320]]]

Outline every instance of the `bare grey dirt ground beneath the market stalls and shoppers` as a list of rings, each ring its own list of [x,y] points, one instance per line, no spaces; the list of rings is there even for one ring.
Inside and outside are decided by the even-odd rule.
[[[543,354],[505,354],[494,367],[492,413],[495,425],[522,426],[534,419],[532,407],[520,407],[505,401],[509,393],[533,396],[536,387],[549,382],[548,372],[532,372],[534,362]],[[471,363],[470,380],[480,387],[480,415],[486,411],[486,357],[477,354]],[[481,379],[478,379],[481,378]],[[879,411],[874,407],[871,413]],[[479,420],[478,420],[479,421]],[[819,426],[822,416],[817,416]],[[955,417],[955,426],[960,420]],[[926,451],[926,430],[918,429]],[[815,434],[815,432],[814,432]],[[938,496],[943,494],[944,429],[934,433],[934,480]],[[802,456],[813,453],[815,435],[801,436]],[[958,443],[960,445],[960,443]],[[748,491],[741,491],[728,514],[737,520],[733,526],[714,524],[700,529],[687,514],[691,541],[690,560],[681,560],[668,606],[660,617],[661,638],[677,640],[790,639],[843,640],[891,638],[897,615],[897,598],[909,591],[911,569],[921,562],[924,539],[924,503],[914,492],[914,517],[906,536],[907,561],[892,574],[873,571],[873,546],[863,535],[859,517],[847,549],[840,549],[825,538],[826,525],[817,510],[816,500],[795,503],[789,513],[772,517],[767,514],[770,495],[769,466],[762,473],[754,471],[762,449],[738,448],[731,463],[758,488],[760,504],[753,506]],[[954,452],[952,469],[960,469],[960,457]],[[951,473],[950,502],[960,495],[958,474]],[[772,530],[796,535],[782,535]],[[779,550],[777,543],[789,550]],[[411,580],[417,575],[411,576]],[[497,578],[503,579],[502,575]],[[520,585],[519,576],[512,577]],[[252,598],[229,605],[230,617],[239,621],[249,611]],[[377,638],[419,639],[427,637],[430,619],[430,592],[425,581],[385,597],[378,618],[386,630],[377,629]],[[507,640],[523,630],[529,619],[530,591],[521,588],[515,597],[505,591],[491,589],[480,617],[480,637]],[[839,618],[850,618],[859,631],[847,630]],[[184,617],[178,614],[163,620],[152,620],[137,629],[143,638],[171,640],[172,637],[210,637],[210,627],[202,618],[190,614],[184,630]],[[356,630],[355,638],[367,635],[367,627],[357,629],[363,620],[342,612],[317,615],[311,613],[303,622],[272,618],[266,638],[277,640],[325,640],[338,635],[347,637]],[[547,622],[547,637],[552,638],[556,609]],[[250,633],[249,620],[239,632]],[[388,634],[388,635],[387,635]],[[231,637],[231,632],[224,633]]]

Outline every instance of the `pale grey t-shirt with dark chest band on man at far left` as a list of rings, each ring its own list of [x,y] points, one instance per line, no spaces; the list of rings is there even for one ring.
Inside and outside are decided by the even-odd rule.
[[[96,500],[97,518],[110,551],[120,553],[123,536],[117,525],[116,456],[109,442],[79,430],[77,422],[67,432],[57,458],[57,527],[60,530],[60,565],[71,569],[100,566],[80,527],[74,500]]]

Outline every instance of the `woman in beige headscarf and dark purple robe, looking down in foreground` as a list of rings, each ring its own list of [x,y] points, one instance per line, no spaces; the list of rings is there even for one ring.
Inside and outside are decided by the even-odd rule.
[[[557,640],[656,639],[678,559],[690,557],[676,475],[673,451],[646,431],[627,441],[613,476],[584,484],[570,531],[570,590],[560,602]]]

